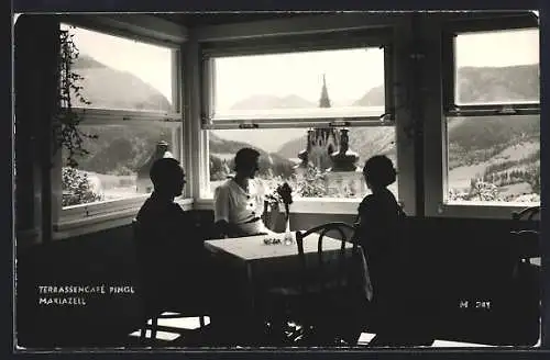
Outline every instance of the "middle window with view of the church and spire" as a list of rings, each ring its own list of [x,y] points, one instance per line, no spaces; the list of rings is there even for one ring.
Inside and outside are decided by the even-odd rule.
[[[302,199],[359,201],[369,193],[362,176],[369,157],[386,154],[397,166],[392,97],[386,94],[387,46],[342,44],[206,53],[202,127],[209,166],[201,198],[211,198],[232,173],[242,147],[260,150],[258,177],[268,188],[287,181]],[[331,156],[345,143],[343,134],[349,151]],[[391,189],[397,195],[397,182]]]

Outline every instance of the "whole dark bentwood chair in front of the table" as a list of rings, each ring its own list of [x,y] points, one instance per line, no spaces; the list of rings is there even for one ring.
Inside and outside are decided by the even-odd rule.
[[[331,236],[330,232],[338,234],[340,246],[336,258],[333,250],[330,251],[329,261],[323,240],[328,236],[337,237]],[[372,288],[361,247],[358,241],[351,241],[355,238],[354,233],[355,226],[342,222],[296,232],[302,268],[301,290],[306,294],[301,316],[306,328],[309,327],[311,331],[308,335],[310,345],[333,346],[342,345],[341,341],[354,344],[355,334],[364,326],[362,314],[365,311],[365,299],[372,299]],[[314,234],[318,234],[317,254],[308,257],[304,249],[304,238]],[[308,274],[309,271],[311,272]]]

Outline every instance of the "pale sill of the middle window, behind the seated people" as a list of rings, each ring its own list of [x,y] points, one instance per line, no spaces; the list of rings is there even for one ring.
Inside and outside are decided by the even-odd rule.
[[[361,199],[296,199],[290,205],[290,213],[297,214],[356,214]],[[213,210],[213,199],[199,199],[196,210]]]

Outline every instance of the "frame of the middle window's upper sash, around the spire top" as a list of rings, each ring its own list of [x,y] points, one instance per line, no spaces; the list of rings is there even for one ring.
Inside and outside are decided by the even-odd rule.
[[[322,36],[319,36],[322,35]],[[321,38],[319,38],[321,37]],[[394,124],[394,99],[392,94],[393,64],[391,29],[372,29],[359,32],[322,32],[312,35],[285,35],[268,38],[252,38],[240,42],[213,42],[200,44],[201,76],[201,127],[204,130],[222,128],[277,128],[321,126],[380,126]],[[380,115],[369,116],[290,116],[258,119],[241,116],[238,119],[215,119],[215,66],[217,57],[288,54],[310,50],[348,49],[359,47],[384,48],[384,91],[385,109]],[[389,68],[389,69],[388,69]],[[305,119],[306,117],[306,119]],[[336,120],[336,121],[334,121]]]

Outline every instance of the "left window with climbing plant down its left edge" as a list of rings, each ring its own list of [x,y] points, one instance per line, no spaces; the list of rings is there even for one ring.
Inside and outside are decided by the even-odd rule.
[[[77,168],[67,166],[67,151],[62,151],[64,214],[88,216],[90,205],[139,206],[134,200],[143,201],[152,191],[151,160],[180,159],[182,116],[174,86],[178,53],[68,24],[61,30],[73,35],[79,53],[72,68],[81,77],[79,93],[87,101],[73,91],[73,106],[82,120],[79,130],[94,136],[82,137],[89,154],[76,157]]]

